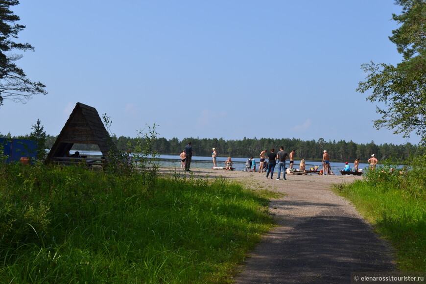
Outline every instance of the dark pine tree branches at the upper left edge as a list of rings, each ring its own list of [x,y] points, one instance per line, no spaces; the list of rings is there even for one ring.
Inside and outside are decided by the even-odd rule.
[[[18,33],[25,28],[22,24],[15,24],[20,18],[10,10],[11,6],[18,4],[18,0],[0,1],[0,106],[5,99],[26,102],[32,95],[47,94],[45,85],[30,81],[24,71],[15,64],[22,55],[13,51],[34,50],[28,43],[15,42]]]

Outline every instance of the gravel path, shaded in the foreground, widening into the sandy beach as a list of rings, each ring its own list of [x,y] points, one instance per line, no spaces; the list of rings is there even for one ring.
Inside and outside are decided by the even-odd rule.
[[[350,283],[351,272],[396,271],[390,245],[330,190],[332,184],[362,177],[286,175],[284,181],[257,172],[193,169],[192,174],[224,176],[253,189],[283,193],[270,202],[279,226],[241,266],[237,284]]]

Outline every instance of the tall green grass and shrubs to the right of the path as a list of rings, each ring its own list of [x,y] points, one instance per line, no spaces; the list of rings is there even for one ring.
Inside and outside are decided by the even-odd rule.
[[[403,172],[385,164],[364,180],[336,187],[391,242],[402,271],[426,271],[425,166],[425,156]]]

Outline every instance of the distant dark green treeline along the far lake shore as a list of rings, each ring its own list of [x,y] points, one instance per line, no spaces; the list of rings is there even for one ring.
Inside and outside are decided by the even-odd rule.
[[[0,135],[2,138],[6,138],[4,135]],[[10,138],[10,137],[9,137]],[[27,136],[11,137],[17,139],[28,139]],[[52,147],[55,141],[55,136],[47,135],[46,148]],[[124,136],[113,136],[112,140],[117,144],[120,151],[133,150],[139,138],[130,138]],[[306,160],[321,160],[324,150],[330,153],[332,161],[355,161],[359,158],[361,162],[365,163],[371,158],[372,154],[376,154],[379,160],[390,159],[395,162],[404,161],[409,159],[411,155],[425,154],[424,149],[411,143],[404,145],[394,145],[392,143],[377,145],[373,141],[367,144],[357,144],[355,142],[344,140],[336,141],[325,141],[323,138],[310,141],[302,141],[296,138],[283,138],[283,139],[272,139],[272,138],[260,138],[256,137],[253,139],[245,138],[243,140],[223,140],[210,139],[210,138],[184,138],[179,140],[172,138],[167,140],[166,138],[157,138],[153,142],[153,149],[157,150],[160,154],[171,154],[179,155],[185,145],[188,142],[192,143],[195,155],[197,156],[210,156],[212,154],[212,148],[216,148],[217,153],[220,157],[250,157],[259,158],[259,154],[262,150],[267,149],[270,151],[271,148],[279,150],[280,146],[284,146],[286,152],[296,150],[296,159]],[[98,151],[97,145],[92,144],[78,144],[74,145],[73,149],[78,150],[94,150]]]

